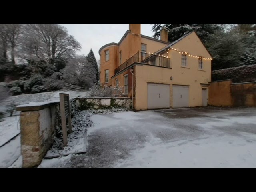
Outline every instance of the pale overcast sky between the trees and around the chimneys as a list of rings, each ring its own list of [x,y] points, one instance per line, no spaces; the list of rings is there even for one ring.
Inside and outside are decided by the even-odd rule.
[[[82,49],[78,54],[87,55],[92,48],[96,59],[100,58],[99,49],[108,43],[118,43],[129,24],[62,24],[68,29],[70,35],[73,35],[80,42]],[[141,34],[152,36],[152,26],[150,24],[141,24]]]

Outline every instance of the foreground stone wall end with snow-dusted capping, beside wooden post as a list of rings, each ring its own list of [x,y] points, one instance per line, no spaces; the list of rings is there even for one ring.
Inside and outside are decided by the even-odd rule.
[[[59,102],[20,105],[22,167],[38,166],[52,145]]]

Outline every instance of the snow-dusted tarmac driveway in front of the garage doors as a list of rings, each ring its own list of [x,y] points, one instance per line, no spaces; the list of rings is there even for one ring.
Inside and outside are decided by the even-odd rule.
[[[94,115],[87,153],[41,167],[256,167],[256,108],[182,108]]]

